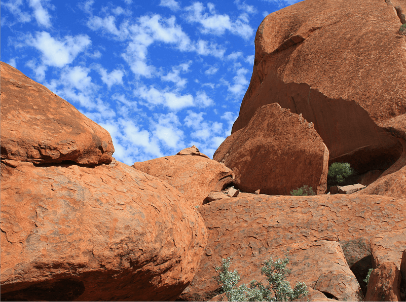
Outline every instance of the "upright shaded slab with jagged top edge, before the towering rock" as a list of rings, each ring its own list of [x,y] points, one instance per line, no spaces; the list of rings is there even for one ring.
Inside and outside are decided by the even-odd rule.
[[[277,103],[255,111],[248,125],[220,145],[213,159],[233,170],[242,192],[290,195],[305,184],[317,194],[326,191],[328,150],[302,116]],[[226,139],[227,141],[227,139]],[[228,155],[227,159],[223,155]]]

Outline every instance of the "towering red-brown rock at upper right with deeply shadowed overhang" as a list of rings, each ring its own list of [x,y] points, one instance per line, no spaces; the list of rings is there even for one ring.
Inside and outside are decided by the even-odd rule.
[[[314,123],[330,163],[387,169],[401,148],[379,126],[406,112],[400,25],[380,0],[307,0],[270,14],[256,32],[252,78],[232,133],[257,108],[278,102]]]

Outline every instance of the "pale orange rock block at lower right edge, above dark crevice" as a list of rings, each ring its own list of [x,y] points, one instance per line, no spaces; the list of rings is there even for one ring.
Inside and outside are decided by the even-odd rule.
[[[400,269],[402,253],[406,247],[406,229],[382,233],[371,238],[374,268],[383,262],[394,262]]]

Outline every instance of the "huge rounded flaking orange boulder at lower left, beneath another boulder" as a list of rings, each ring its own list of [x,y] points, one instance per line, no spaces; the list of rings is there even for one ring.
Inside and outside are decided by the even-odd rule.
[[[2,299],[174,300],[192,281],[207,231],[166,182],[116,161],[1,171]]]

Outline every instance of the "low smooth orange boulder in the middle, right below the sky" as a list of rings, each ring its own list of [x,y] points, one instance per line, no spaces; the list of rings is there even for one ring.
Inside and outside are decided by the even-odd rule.
[[[221,191],[234,182],[229,168],[202,156],[167,156],[132,167],[168,182],[194,206],[201,206],[211,191]]]

